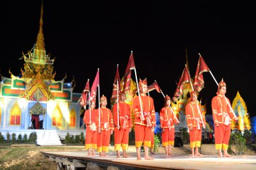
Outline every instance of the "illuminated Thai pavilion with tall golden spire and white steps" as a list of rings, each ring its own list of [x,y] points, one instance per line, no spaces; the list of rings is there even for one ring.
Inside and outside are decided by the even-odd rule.
[[[51,138],[51,141],[44,141],[42,145],[58,145],[67,132],[81,134],[81,106],[77,104],[81,94],[73,92],[74,81],[65,83],[66,77],[54,80],[54,59],[45,50],[43,6],[35,46],[22,57],[24,68],[20,77],[10,71],[10,78],[1,76],[0,132],[4,138],[7,132],[23,136],[36,131],[38,143],[47,136],[45,138]],[[38,123],[38,115],[44,116],[44,129],[39,130],[37,126],[30,129],[31,118],[36,118]]]

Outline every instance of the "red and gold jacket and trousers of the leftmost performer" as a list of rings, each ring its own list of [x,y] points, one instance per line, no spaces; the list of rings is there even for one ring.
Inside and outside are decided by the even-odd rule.
[[[84,124],[86,125],[86,138],[85,138],[85,149],[92,148],[97,149],[97,118],[99,117],[99,111],[91,109],[92,124],[90,124],[90,110],[84,112]],[[99,120],[98,120],[99,121]],[[92,127],[91,127],[92,126]]]

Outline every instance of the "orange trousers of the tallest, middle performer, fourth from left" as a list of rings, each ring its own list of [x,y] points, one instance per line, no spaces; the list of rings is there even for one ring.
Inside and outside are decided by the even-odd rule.
[[[134,127],[135,131],[135,146],[136,148],[140,148],[143,144],[143,146],[151,147],[151,141],[152,141],[152,132],[150,127],[146,127],[143,125],[135,125]]]

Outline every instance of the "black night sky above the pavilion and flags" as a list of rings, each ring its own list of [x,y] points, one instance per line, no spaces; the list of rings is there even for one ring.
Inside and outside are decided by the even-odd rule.
[[[206,3],[207,2],[207,3]],[[22,52],[31,50],[39,29],[42,1],[9,1],[1,5],[1,74],[20,74]],[[173,3],[172,1],[44,1],[45,49],[56,57],[55,80],[76,80],[74,92],[82,92],[87,79],[93,80],[100,68],[100,96],[111,97],[116,64],[124,75],[131,50],[138,78],[148,85],[157,80],[164,94],[173,96],[186,64],[195,76],[201,53],[219,82],[227,83],[226,96],[232,102],[237,90],[250,116],[255,107],[255,9],[249,3]],[[132,78],[135,81],[134,71]],[[205,89],[199,99],[211,114],[211,99],[217,85],[204,73]],[[156,111],[163,96],[150,92]],[[110,105],[108,104],[108,107]]]

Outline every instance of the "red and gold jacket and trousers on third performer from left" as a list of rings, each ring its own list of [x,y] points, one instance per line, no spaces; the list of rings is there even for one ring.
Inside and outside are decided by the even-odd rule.
[[[132,115],[130,105],[124,102],[119,102],[119,125],[120,129],[117,129],[118,115],[117,115],[117,103],[113,106],[114,124],[115,124],[115,150],[120,150],[122,146],[123,150],[127,150],[129,142],[129,128],[132,127]]]

